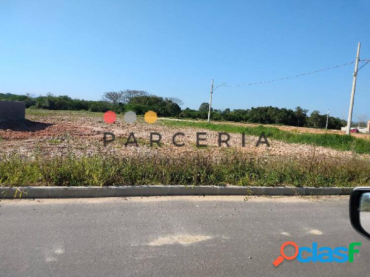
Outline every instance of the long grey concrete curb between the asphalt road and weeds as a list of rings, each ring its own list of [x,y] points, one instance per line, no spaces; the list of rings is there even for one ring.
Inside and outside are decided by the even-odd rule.
[[[1,198],[79,198],[161,195],[349,195],[353,188],[240,186],[1,187]]]

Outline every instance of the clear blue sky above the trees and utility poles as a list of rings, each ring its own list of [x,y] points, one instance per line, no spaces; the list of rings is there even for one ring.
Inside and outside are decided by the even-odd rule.
[[[215,84],[243,84],[370,59],[370,0],[0,1],[0,92],[98,100],[146,90],[209,101]],[[215,108],[330,108],[347,118],[354,65],[246,87],[222,87]],[[370,118],[370,63],[354,120]]]

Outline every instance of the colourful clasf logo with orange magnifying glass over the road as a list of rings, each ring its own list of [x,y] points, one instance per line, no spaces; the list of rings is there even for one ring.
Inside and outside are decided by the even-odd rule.
[[[292,256],[287,256],[284,253],[284,248],[292,245],[295,248],[295,253]],[[353,263],[353,254],[359,253],[360,249],[355,249],[355,246],[361,246],[361,242],[351,242],[347,247],[320,247],[317,242],[312,242],[312,247],[298,247],[295,242],[284,242],[280,247],[280,256],[273,262],[277,267],[285,260],[297,259],[301,263]],[[303,256],[306,256],[305,258]]]

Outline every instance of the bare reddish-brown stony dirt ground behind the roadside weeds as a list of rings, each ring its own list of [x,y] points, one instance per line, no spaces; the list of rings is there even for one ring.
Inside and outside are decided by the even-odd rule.
[[[79,112],[79,111],[47,111],[27,110],[26,122],[0,126],[0,150],[4,152],[19,151],[24,155],[40,151],[45,155],[59,155],[73,152],[77,155],[114,152],[119,155],[141,154],[164,154],[164,155],[190,155],[206,153],[210,155],[222,155],[225,151],[235,149],[244,153],[261,156],[273,155],[320,155],[339,157],[370,158],[370,155],[359,155],[352,152],[337,151],[330,148],[314,147],[303,144],[289,144],[276,140],[269,140],[270,146],[261,144],[256,147],[257,137],[246,136],[245,147],[242,147],[240,134],[230,134],[230,148],[218,147],[218,133],[196,128],[173,128],[163,126],[160,119],[155,124],[147,124],[139,118],[134,124],[123,121],[121,115],[113,124],[107,124],[103,120],[102,113]],[[235,124],[235,123],[234,123]],[[245,125],[245,124],[244,124]],[[276,127],[276,126],[275,126]],[[294,130],[297,128],[279,126],[281,129]],[[299,131],[312,131],[310,128],[299,128]],[[320,130],[313,130],[318,131]],[[115,141],[103,146],[103,133],[111,132],[115,135]],[[150,132],[162,135],[162,145],[149,146]],[[185,134],[179,137],[178,142],[184,142],[185,146],[176,147],[172,143],[172,137],[178,132]],[[206,132],[208,147],[196,147],[196,132]],[[139,146],[124,145],[130,133],[135,134]]]

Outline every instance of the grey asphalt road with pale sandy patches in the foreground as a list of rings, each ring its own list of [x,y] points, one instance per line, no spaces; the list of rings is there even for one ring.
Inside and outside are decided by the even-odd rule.
[[[0,276],[369,276],[348,197],[145,197],[0,202]],[[272,262],[286,241],[353,263]],[[292,255],[292,248],[286,254]]]

